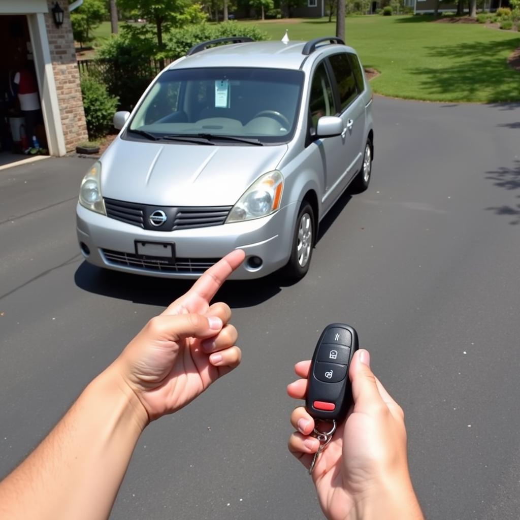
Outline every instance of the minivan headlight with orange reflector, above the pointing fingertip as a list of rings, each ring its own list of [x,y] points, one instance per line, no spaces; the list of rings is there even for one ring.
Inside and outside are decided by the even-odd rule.
[[[274,213],[282,200],[283,175],[275,170],[255,180],[229,212],[226,223],[242,222]]]

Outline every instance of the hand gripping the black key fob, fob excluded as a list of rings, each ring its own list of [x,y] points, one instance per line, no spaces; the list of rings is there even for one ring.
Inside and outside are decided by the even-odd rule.
[[[305,379],[287,387],[294,399],[305,398],[309,370],[310,361],[296,363],[296,374]],[[370,370],[367,350],[354,354],[349,378],[354,405],[312,474],[321,509],[331,520],[422,518],[408,472],[404,413]],[[297,432],[289,450],[308,468],[320,444],[311,436],[314,419],[298,407],[291,423]]]

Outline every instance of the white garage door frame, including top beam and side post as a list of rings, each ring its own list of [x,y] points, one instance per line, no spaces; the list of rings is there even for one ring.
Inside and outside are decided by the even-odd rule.
[[[46,0],[2,0],[0,2],[0,16],[27,15],[49,154],[65,155],[67,150],[45,27],[44,14],[47,11]]]

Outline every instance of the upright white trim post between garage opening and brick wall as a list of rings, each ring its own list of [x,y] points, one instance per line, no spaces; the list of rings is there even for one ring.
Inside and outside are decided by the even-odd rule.
[[[40,12],[27,16],[33,47],[34,66],[40,89],[42,113],[50,155],[65,155],[65,138],[54,81],[53,63],[50,59],[49,40],[44,15]]]

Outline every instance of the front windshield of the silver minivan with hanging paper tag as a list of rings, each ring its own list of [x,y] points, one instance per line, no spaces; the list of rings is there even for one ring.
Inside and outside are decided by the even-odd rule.
[[[219,145],[244,145],[247,139],[285,142],[296,125],[303,77],[301,71],[261,68],[166,71],[128,128],[139,138],[204,136]],[[219,140],[218,136],[244,139]]]

